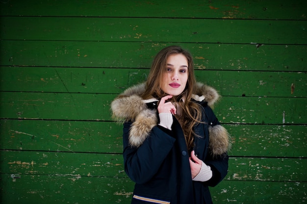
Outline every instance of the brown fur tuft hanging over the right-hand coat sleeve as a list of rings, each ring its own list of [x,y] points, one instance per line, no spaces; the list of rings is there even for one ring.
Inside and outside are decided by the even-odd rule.
[[[209,151],[213,156],[222,155],[231,148],[230,135],[223,126],[209,126]]]

